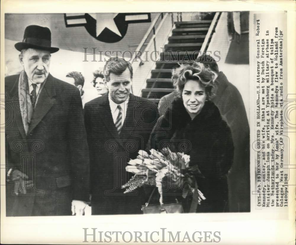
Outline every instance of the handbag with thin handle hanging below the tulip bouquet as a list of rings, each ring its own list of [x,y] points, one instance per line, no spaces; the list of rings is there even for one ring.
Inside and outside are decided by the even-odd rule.
[[[183,207],[180,202],[170,204],[160,204],[160,205],[149,205],[149,202],[152,198],[152,195],[155,191],[156,187],[153,189],[152,193],[149,196],[148,202],[145,205],[142,205],[141,210],[143,214],[167,214],[167,213],[183,213]]]

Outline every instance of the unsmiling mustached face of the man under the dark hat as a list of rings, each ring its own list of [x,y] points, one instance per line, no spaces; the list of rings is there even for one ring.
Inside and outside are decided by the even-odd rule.
[[[50,52],[40,49],[27,49],[19,58],[28,79],[33,83],[43,83],[49,73]]]

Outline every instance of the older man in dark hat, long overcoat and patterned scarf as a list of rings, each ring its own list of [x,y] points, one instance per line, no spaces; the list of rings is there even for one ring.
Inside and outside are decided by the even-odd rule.
[[[78,88],[49,73],[49,28],[16,43],[23,70],[5,78],[7,216],[82,215],[89,159]]]

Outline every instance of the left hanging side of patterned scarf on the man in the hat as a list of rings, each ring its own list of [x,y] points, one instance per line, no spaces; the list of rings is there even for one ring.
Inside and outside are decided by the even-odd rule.
[[[31,118],[33,116],[34,108],[31,104],[28,77],[26,72],[24,71],[20,73],[18,89],[19,89],[18,91],[19,91],[20,111],[22,114],[22,123],[24,125],[24,130],[27,135]]]

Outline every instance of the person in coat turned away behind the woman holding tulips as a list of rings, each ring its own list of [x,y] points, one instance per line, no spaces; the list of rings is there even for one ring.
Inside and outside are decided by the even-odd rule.
[[[234,143],[233,165],[228,175],[230,212],[250,212],[250,127],[242,95],[219,71],[213,57],[203,54],[197,59],[217,77],[212,101],[227,122]]]

